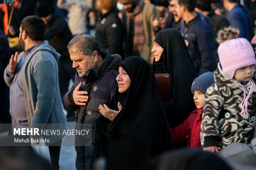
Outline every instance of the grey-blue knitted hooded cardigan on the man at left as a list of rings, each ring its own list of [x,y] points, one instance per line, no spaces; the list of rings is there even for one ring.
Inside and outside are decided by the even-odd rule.
[[[19,62],[25,52],[17,58]],[[22,84],[28,123],[66,123],[59,92],[58,65],[60,54],[48,44],[42,44],[28,56],[23,65]],[[9,67],[7,67],[9,68]],[[14,76],[4,78],[11,86]]]

